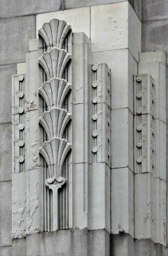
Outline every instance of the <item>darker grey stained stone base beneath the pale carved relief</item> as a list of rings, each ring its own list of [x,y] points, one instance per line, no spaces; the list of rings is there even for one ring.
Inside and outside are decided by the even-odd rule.
[[[57,241],[57,243],[55,243]],[[167,256],[167,248],[151,239],[134,240],[128,234],[111,235],[104,230],[45,232],[14,239],[0,248],[1,256]]]

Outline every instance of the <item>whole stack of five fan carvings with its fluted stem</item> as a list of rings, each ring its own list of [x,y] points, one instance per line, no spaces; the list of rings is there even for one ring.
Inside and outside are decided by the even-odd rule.
[[[44,230],[69,228],[71,163],[71,26],[52,19],[38,31],[47,52],[39,58],[46,80],[39,88],[45,107],[39,123],[44,140]]]

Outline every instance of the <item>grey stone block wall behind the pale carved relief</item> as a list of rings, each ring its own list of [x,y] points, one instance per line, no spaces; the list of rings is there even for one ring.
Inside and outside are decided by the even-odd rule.
[[[127,0],[125,0],[127,1]],[[119,0],[64,0],[64,9]],[[168,50],[168,0],[130,0],[143,22],[142,51]],[[59,11],[61,0],[0,0],[0,255],[12,254],[11,239],[11,76],[25,62],[29,39],[35,38],[36,15]],[[168,71],[168,69],[167,69]]]

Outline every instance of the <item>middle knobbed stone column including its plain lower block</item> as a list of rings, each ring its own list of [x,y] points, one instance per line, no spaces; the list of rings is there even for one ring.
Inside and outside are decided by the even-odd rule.
[[[88,228],[111,232],[111,71],[92,65],[89,85]],[[97,196],[99,195],[99,196]]]

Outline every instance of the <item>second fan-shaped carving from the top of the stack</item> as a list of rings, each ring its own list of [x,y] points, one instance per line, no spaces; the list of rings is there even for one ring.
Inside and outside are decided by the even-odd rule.
[[[53,77],[62,78],[69,60],[71,60],[71,55],[66,50],[52,48],[49,52],[43,53],[43,57],[39,58],[39,64],[43,67],[49,81]]]

